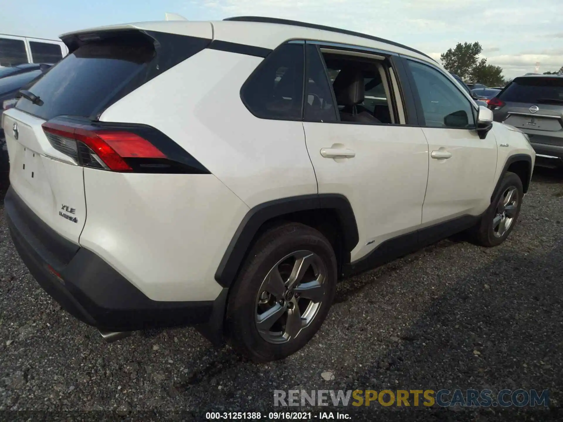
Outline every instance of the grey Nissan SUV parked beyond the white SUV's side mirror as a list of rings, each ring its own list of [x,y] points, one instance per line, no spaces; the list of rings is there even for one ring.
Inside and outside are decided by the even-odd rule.
[[[515,78],[489,100],[496,122],[528,134],[538,157],[563,164],[563,75]]]

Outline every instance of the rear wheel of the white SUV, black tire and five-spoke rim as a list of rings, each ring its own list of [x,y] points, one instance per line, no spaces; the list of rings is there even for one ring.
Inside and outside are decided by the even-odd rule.
[[[323,324],[336,282],[336,256],[319,231],[300,223],[271,228],[253,245],[231,288],[226,337],[253,361],[288,357]]]

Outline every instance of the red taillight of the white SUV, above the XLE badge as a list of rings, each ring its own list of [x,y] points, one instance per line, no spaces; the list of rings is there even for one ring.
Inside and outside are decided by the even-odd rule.
[[[114,172],[133,169],[125,158],[166,159],[157,147],[135,133],[85,128],[84,125],[43,123],[51,145],[71,156],[77,164]]]

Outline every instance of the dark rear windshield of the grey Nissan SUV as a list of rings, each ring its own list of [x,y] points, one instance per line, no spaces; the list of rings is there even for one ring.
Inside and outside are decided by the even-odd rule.
[[[515,79],[499,98],[508,102],[555,102],[563,101],[563,78]]]

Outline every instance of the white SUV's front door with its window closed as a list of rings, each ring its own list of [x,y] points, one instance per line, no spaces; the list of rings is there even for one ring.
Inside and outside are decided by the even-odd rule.
[[[464,215],[477,216],[490,204],[490,186],[497,169],[494,133],[479,138],[477,110],[442,71],[418,61],[406,62],[430,147],[422,223],[427,226]]]

